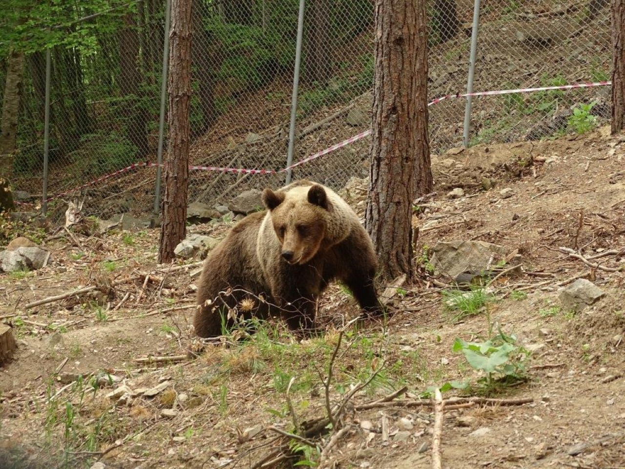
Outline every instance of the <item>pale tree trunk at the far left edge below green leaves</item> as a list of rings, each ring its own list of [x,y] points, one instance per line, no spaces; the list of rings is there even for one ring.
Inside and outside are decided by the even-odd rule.
[[[17,116],[22,98],[24,78],[24,53],[11,51],[8,58],[4,99],[2,100],[2,120],[0,122],[0,176],[11,179],[17,138]]]

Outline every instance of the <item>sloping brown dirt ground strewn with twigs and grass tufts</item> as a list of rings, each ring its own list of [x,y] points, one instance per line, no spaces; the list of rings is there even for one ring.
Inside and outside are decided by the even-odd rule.
[[[324,380],[332,363],[331,403],[384,368],[349,400],[348,430],[336,444],[328,446],[336,433],[321,436],[314,443],[325,452],[300,451],[301,460],[431,467],[432,407],[399,401],[460,380],[472,383],[470,390],[444,398],[487,393],[528,401],[446,410],[444,467],[625,467],[625,138],[608,133],[452,149],[434,158],[436,193],[415,208],[418,280],[392,300],[396,313],[386,326],[347,328],[336,349],[337,331],[358,313],[339,286],[321,301],[319,338],[300,343],[277,322],[246,341],[230,336],[206,345],[190,329],[190,274],[200,260],[178,270],[158,266],[158,230],[47,241],[46,268],[0,277],[0,318],[18,342],[14,360],[0,369],[0,466],[12,467],[11,458],[21,461],[16,467],[37,468],[91,467],[96,460],[133,469],[284,466],[273,451],[289,438],[278,431],[294,431],[293,414],[303,426],[327,415]],[[454,188],[464,196],[449,198]],[[503,195],[508,188],[511,195]],[[364,196],[366,185],[357,181],[346,191],[360,211]],[[228,227],[190,231],[221,238]],[[455,240],[501,245],[509,263],[500,272],[521,265],[492,283],[485,310],[462,318],[444,303],[453,290],[449,278],[432,273],[427,258],[438,241]],[[560,248],[603,255],[588,266]],[[561,308],[559,292],[575,278],[606,295],[573,314]],[[26,309],[93,285],[90,296]],[[526,380],[485,391],[477,385],[483,375],[452,346],[456,338],[483,340],[493,324],[532,353]],[[125,396],[109,395],[121,386]],[[155,386],[153,396],[144,395]],[[358,408],[404,386],[385,405]]]

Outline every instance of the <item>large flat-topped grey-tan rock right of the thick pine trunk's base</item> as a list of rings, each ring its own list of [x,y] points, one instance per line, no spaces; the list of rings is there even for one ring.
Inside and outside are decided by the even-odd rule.
[[[431,248],[430,262],[437,274],[450,276],[454,281],[462,273],[485,271],[497,258],[506,255],[502,246],[485,241],[439,242]]]

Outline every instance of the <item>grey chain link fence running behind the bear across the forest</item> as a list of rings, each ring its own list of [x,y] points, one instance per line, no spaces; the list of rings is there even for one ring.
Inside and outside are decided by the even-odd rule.
[[[427,8],[429,96],[464,93],[474,4],[430,0]],[[133,163],[156,163],[165,10],[162,0],[144,0],[85,19],[88,37],[51,51],[50,195]],[[190,164],[285,168],[298,11],[298,0],[194,3]],[[603,81],[609,79],[610,44],[604,0],[482,0],[473,89]],[[371,126],[372,51],[372,0],[306,2],[294,162]],[[17,189],[38,198],[45,76],[46,52],[29,54],[13,180]],[[473,98],[467,143],[584,131],[609,118],[609,93],[609,87],[602,86]],[[465,106],[466,100],[459,98],[431,106],[433,154],[463,144]],[[166,128],[164,133],[166,141]],[[367,176],[368,153],[369,138],[363,138],[297,166],[292,177],[339,189],[354,176]],[[285,176],[191,171],[189,203],[227,203],[245,189],[280,186]],[[141,167],[67,197],[80,194],[86,209],[103,218],[126,211],[150,213],[155,179],[156,168]],[[62,199],[54,199],[59,209]]]

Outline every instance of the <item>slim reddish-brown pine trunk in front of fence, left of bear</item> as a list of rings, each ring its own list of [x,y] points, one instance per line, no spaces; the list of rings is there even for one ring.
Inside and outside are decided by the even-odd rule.
[[[192,0],[172,0],[169,33],[169,136],[165,159],[165,196],[159,262],[174,259],[186,235],[189,182],[189,106],[191,104]]]

